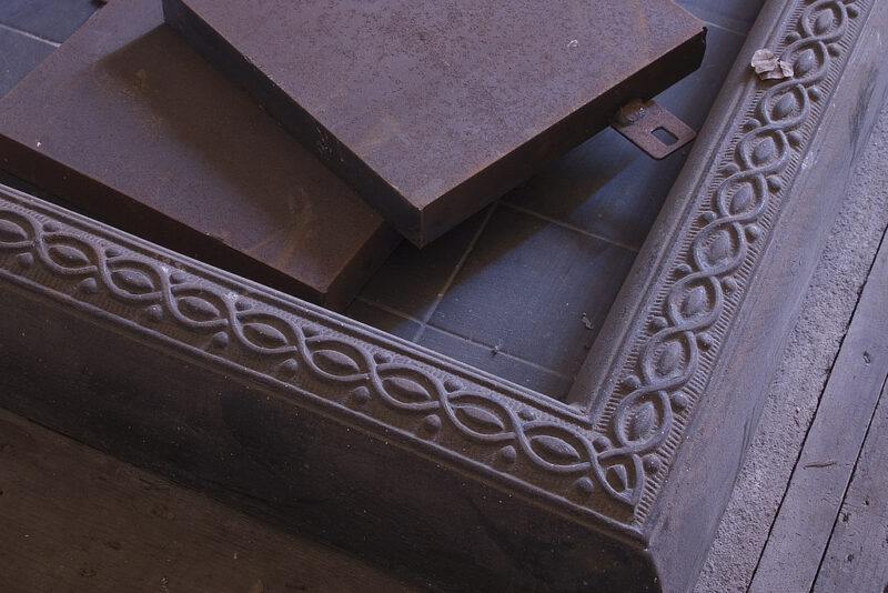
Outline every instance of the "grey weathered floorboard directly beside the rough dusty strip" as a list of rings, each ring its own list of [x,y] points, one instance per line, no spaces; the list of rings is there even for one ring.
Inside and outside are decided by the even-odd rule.
[[[888,244],[876,255],[850,328],[750,585],[808,591],[888,374]]]

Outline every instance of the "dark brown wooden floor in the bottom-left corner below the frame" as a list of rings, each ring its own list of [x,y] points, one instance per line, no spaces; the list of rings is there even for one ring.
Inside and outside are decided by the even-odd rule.
[[[411,591],[380,569],[0,411],[3,591]]]

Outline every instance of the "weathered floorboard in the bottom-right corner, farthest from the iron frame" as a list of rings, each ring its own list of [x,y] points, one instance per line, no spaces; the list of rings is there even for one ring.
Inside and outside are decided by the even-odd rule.
[[[888,390],[882,389],[872,424],[841,505],[815,593],[888,590]]]

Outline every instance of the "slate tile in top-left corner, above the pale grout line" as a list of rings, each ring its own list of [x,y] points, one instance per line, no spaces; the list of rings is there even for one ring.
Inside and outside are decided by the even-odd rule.
[[[0,22],[61,43],[102,3],[101,0],[2,0]]]

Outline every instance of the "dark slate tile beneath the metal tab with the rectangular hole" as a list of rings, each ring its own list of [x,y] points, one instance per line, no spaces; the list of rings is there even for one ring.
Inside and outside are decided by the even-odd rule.
[[[741,43],[737,33],[710,28],[700,69],[657,102],[698,130]],[[504,200],[638,249],[689,152],[688,145],[656,161],[608,128]]]

